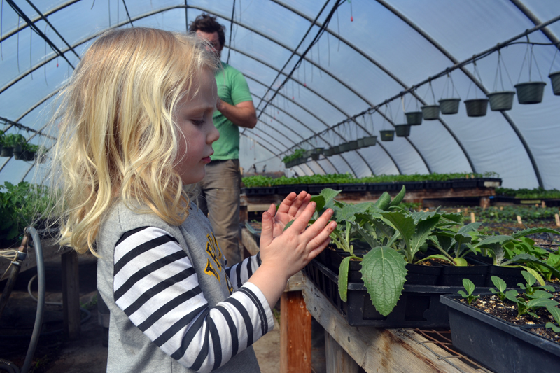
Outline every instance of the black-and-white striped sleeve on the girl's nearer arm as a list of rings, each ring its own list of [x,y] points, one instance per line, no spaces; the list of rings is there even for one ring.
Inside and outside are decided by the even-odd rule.
[[[274,328],[268,302],[253,283],[209,307],[188,256],[165,230],[125,233],[114,261],[118,307],[162,351],[192,370],[221,367]]]

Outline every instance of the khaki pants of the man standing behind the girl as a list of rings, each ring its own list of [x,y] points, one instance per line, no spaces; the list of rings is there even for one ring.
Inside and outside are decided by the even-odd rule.
[[[239,160],[213,161],[197,185],[198,206],[207,214],[228,267],[241,262],[239,251]]]

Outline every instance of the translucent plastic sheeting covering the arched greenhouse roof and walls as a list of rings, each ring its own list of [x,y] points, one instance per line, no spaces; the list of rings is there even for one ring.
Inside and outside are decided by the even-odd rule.
[[[54,143],[44,132],[48,104],[103,31],[186,32],[206,12],[225,26],[223,61],[244,73],[257,108],[257,127],[241,129],[244,169],[283,171],[297,148],[373,135],[376,146],[287,174],[493,171],[507,188],[560,189],[560,96],[548,77],[560,71],[559,1],[0,1],[0,129],[30,143]],[[540,104],[521,105],[516,94],[510,111],[467,115],[465,100],[528,81],[547,83]],[[381,141],[405,111],[450,97],[461,99],[457,114]],[[0,183],[35,174],[32,162],[0,158]]]

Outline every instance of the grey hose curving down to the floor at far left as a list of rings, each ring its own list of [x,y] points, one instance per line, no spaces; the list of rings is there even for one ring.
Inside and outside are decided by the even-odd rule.
[[[33,327],[33,334],[31,335],[31,342],[29,342],[29,348],[27,349],[27,355],[25,356],[25,362],[23,363],[22,373],[29,372],[31,367],[31,360],[35,353],[37,347],[37,342],[39,339],[39,334],[41,333],[41,325],[43,325],[43,314],[45,311],[45,262],[43,262],[43,248],[41,247],[41,239],[34,227],[25,228],[25,233],[31,234],[33,239],[33,246],[35,248],[35,255],[37,261],[37,312],[35,315],[35,325]]]

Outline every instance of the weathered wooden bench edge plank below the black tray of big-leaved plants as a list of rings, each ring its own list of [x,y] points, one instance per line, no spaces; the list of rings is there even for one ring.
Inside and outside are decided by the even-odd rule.
[[[365,372],[479,372],[461,360],[451,358],[454,367],[447,361],[449,359],[441,358],[449,356],[449,352],[435,344],[429,344],[428,349],[412,330],[349,326],[307,277],[304,277],[302,293],[311,316]]]

